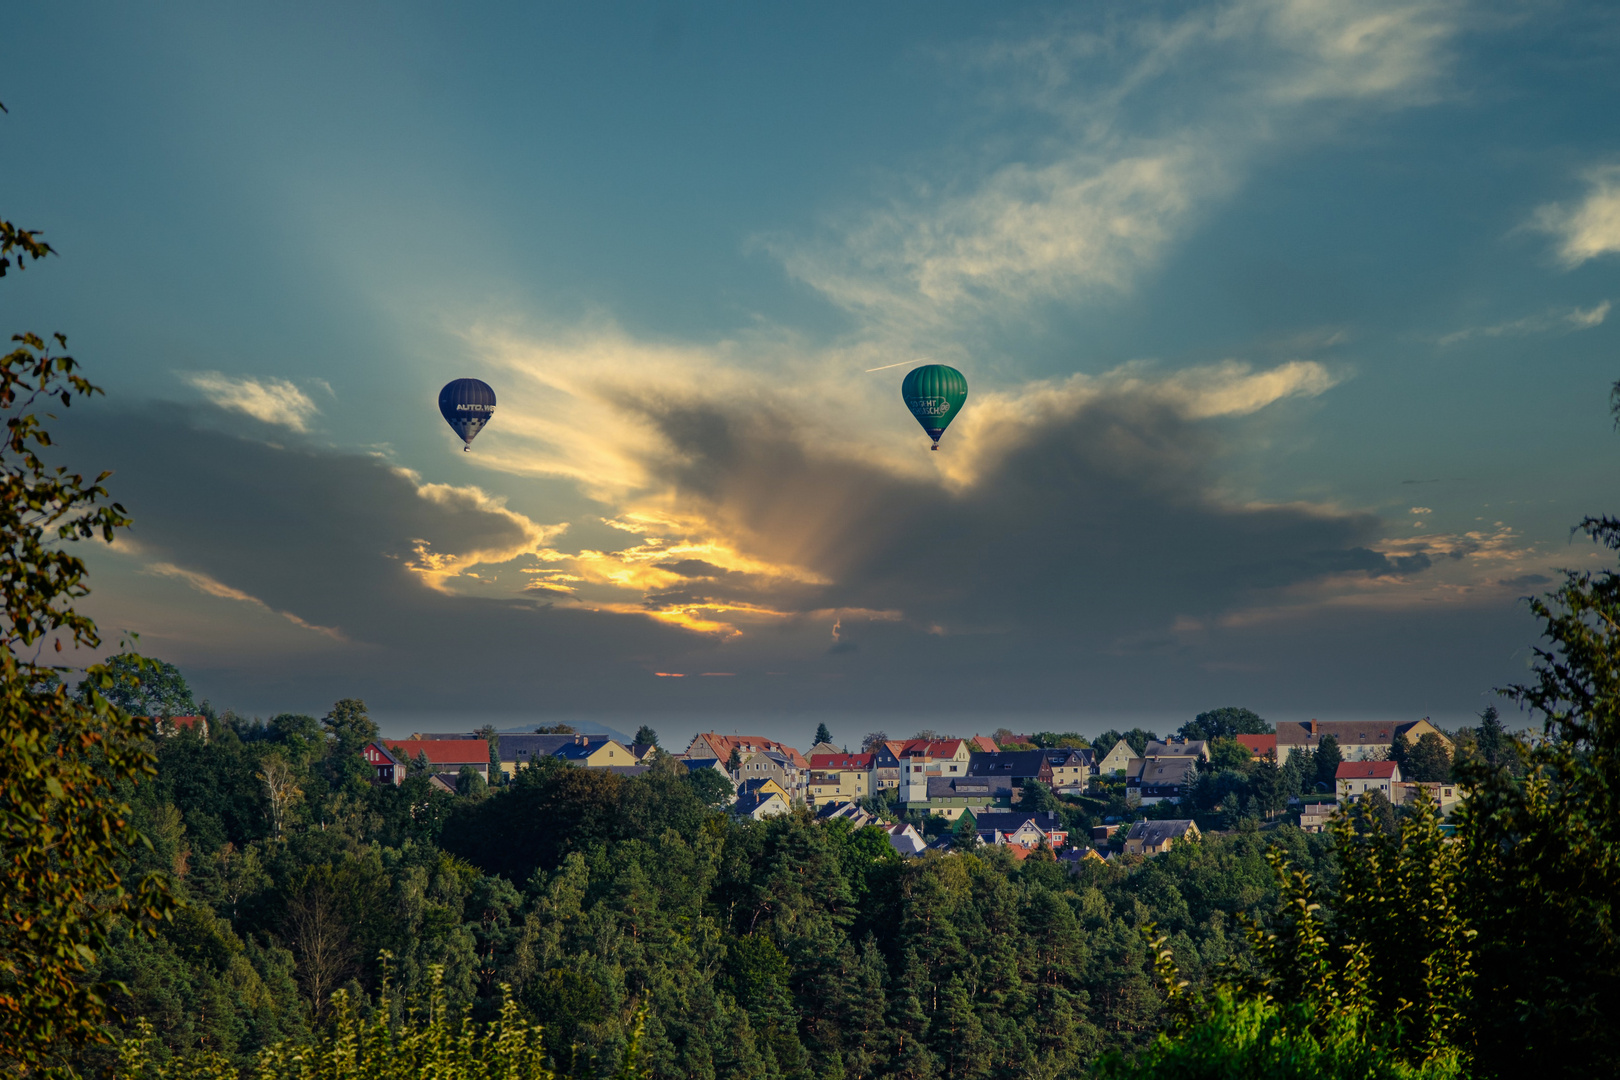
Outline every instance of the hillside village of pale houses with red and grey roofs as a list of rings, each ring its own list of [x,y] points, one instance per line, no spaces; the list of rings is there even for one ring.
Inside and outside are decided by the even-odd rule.
[[[484,730],[379,738],[363,756],[379,784],[399,785],[411,771],[424,771],[429,784],[447,793],[467,793],[473,776],[480,785],[510,782],[518,769],[548,758],[620,776],[640,776],[666,763],[688,774],[718,777],[726,810],[735,818],[760,821],[802,810],[821,821],[876,826],[907,857],[985,844],[1006,847],[1017,860],[1045,848],[1077,863],[1158,855],[1202,836],[1191,813],[1166,813],[1173,814],[1187,800],[1200,769],[1210,769],[1212,740],[1152,738],[1137,750],[1121,737],[1098,753],[1092,746],[1032,746],[1029,735],[1001,732],[1001,737],[1003,742],[990,735],[878,738],[868,740],[860,753],[849,753],[826,740],[800,751],[760,735],[700,732],[685,750],[669,753],[656,742],[578,732]],[[1392,759],[1396,756],[1392,746],[1418,746],[1424,737],[1452,751],[1452,740],[1427,719],[1283,722],[1273,733],[1238,733],[1231,740],[1254,759],[1275,766],[1298,753],[1315,755],[1324,740],[1336,743],[1341,761],[1332,790],[1293,797],[1288,806],[1290,819],[1304,832],[1322,832],[1343,806],[1374,792],[1392,806],[1426,798],[1443,821],[1463,798],[1463,789],[1405,779],[1400,763]],[[1030,784],[1071,805],[1084,805],[1081,800],[1090,797],[1095,806],[1098,797],[1123,792],[1134,813],[1131,819],[1103,814],[1097,824],[1076,826],[1079,814],[1027,805]]]

